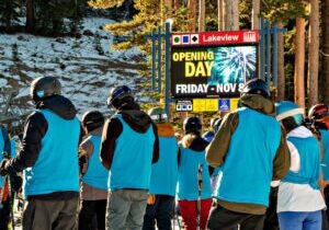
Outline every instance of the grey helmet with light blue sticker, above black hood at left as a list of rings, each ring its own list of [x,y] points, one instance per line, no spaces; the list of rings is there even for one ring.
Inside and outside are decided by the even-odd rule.
[[[55,77],[41,77],[32,81],[30,95],[34,102],[47,96],[60,95],[61,85]]]

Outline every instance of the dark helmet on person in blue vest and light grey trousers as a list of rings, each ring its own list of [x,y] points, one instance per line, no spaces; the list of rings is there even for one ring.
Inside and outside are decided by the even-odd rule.
[[[125,103],[133,102],[134,96],[132,90],[127,85],[115,87],[110,91],[107,105],[113,105],[115,108],[122,107]]]

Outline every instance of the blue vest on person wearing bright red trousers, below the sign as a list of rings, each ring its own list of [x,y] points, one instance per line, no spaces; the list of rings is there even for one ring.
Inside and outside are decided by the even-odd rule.
[[[194,151],[183,148],[180,143],[181,157],[178,177],[178,199],[197,200],[197,170],[203,165],[201,198],[212,197],[211,176],[205,151]]]

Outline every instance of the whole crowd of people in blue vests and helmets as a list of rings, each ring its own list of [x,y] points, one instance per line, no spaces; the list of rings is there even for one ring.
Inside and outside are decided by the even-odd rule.
[[[126,85],[111,90],[109,118],[88,111],[79,120],[57,78],[35,79],[31,97],[16,153],[0,130],[1,230],[20,172],[23,230],[171,230],[174,210],[185,230],[329,229],[325,104],[306,117],[253,79],[212,130],[189,116],[179,136],[164,110],[144,112]]]

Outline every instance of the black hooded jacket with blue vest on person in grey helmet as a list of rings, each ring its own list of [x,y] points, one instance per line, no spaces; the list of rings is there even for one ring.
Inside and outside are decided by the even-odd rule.
[[[38,102],[36,111],[27,117],[22,148],[7,165],[11,172],[25,170],[27,199],[79,196],[81,127],[76,114],[68,99],[54,95]]]

